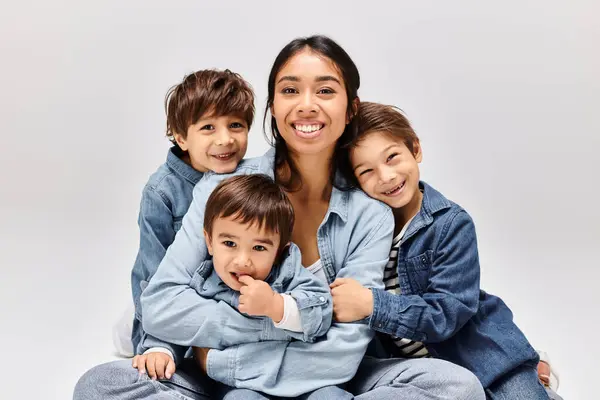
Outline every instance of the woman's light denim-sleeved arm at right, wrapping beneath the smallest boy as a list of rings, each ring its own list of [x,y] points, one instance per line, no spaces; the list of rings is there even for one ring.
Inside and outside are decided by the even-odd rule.
[[[383,269],[388,260],[393,216],[389,208],[369,203],[355,230],[360,244],[346,258],[339,277],[353,278],[366,287],[383,287]],[[353,229],[355,227],[348,227]],[[249,343],[211,350],[208,375],[238,388],[258,390],[274,396],[298,396],[301,392],[348,382],[373,337],[366,324],[334,323],[315,343],[294,341]]]

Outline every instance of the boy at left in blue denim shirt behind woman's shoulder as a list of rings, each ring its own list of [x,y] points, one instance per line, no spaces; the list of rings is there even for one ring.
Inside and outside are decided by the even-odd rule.
[[[165,111],[173,147],[142,192],[140,247],[131,273],[135,318],[132,328],[126,327],[130,323],[117,325],[114,342],[122,355],[137,354],[133,363],[140,370],[146,364],[149,373],[155,366],[168,365],[170,376],[175,371],[173,352],[182,349],[158,339],[153,348],[143,348],[140,296],[181,228],[196,183],[207,171],[234,171],[244,157],[254,119],[254,93],[229,70],[202,70],[168,91]]]

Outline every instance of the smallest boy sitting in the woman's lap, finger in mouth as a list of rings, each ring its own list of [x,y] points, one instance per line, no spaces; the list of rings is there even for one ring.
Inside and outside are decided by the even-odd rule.
[[[212,260],[197,268],[190,287],[241,313],[268,317],[292,338],[313,341],[324,335],[333,313],[329,286],[302,267],[300,250],[290,243],[293,227],[292,204],[271,178],[254,174],[223,180],[209,196],[204,214],[204,237]],[[227,323],[200,329],[198,337],[206,348],[257,340]],[[221,395],[237,390],[219,386]],[[350,398],[337,387],[317,392],[312,395]],[[250,394],[242,390],[237,395],[248,398]]]

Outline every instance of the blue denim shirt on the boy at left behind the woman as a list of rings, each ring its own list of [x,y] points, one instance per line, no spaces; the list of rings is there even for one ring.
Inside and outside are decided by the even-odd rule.
[[[139,345],[146,335],[141,324],[140,295],[181,228],[181,220],[192,202],[194,186],[203,175],[182,161],[181,156],[181,150],[177,147],[169,149],[167,161],[150,176],[142,191],[138,217],[140,247],[131,272],[131,291],[135,305],[131,336],[137,354],[145,350]],[[171,352],[176,351],[173,345],[160,340],[155,339],[154,345],[165,347]]]

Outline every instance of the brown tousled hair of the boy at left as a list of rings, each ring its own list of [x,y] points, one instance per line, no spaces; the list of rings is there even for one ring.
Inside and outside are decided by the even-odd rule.
[[[238,115],[248,129],[254,120],[254,92],[239,74],[226,69],[194,72],[173,86],[165,97],[167,137],[176,144],[174,134],[184,138],[190,125],[202,116]]]

